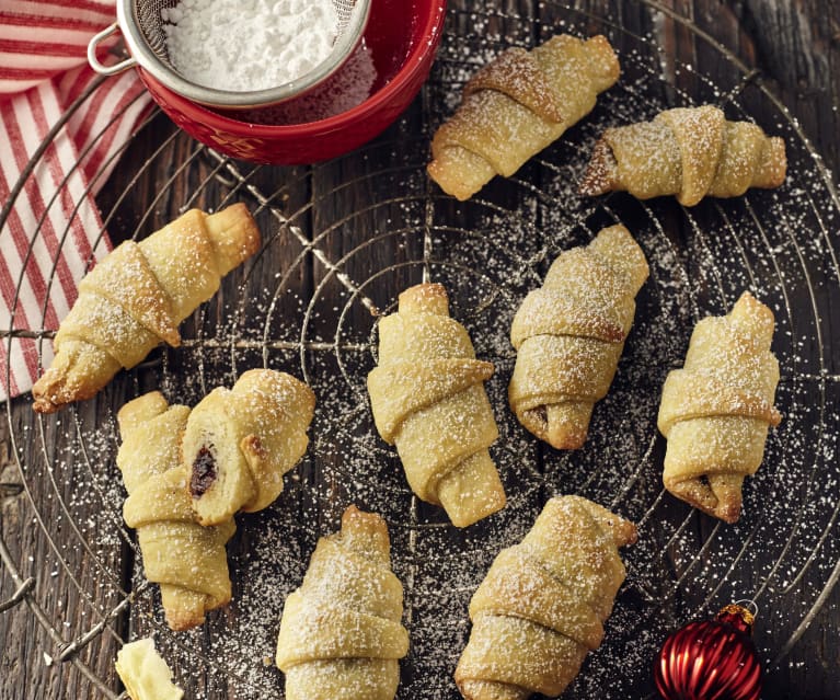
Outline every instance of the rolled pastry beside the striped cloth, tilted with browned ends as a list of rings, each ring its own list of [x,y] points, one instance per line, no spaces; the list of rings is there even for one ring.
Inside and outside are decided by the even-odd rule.
[[[79,284],[53,341],[53,364],[32,388],[35,411],[90,399],[162,341],[177,346],[179,324],[258,248],[242,204],[212,215],[191,209],[139,243],[118,245]]]

